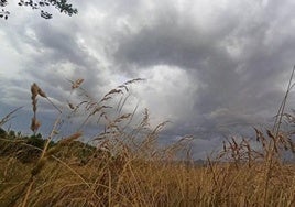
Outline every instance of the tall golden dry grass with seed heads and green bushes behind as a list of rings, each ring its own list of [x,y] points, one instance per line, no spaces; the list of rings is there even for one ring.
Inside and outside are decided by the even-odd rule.
[[[291,81],[293,79],[293,75]],[[87,115],[77,131],[67,138],[58,132],[63,113],[33,84],[33,135],[0,130],[0,204],[2,206],[294,206],[295,166],[282,162],[282,151],[294,153],[293,115],[284,111],[286,97],[273,129],[256,129],[256,142],[229,138],[217,157],[195,165],[189,138],[160,148],[157,137],[166,122],[151,129],[149,111],[133,123],[135,110],[124,113],[129,86],[133,79],[110,90],[99,101],[72,81],[72,95],[80,101],[67,101],[68,119]],[[37,133],[37,98],[50,101],[61,113],[48,138]],[[119,100],[119,101],[118,101]],[[114,103],[119,102],[119,103]],[[11,117],[0,121],[0,127]],[[91,142],[78,141],[84,127],[97,121],[98,133]],[[58,139],[54,139],[58,138]],[[53,142],[53,140],[59,140]],[[255,148],[254,148],[255,146]],[[186,154],[185,159],[179,159]],[[182,156],[184,157],[184,156]]]

